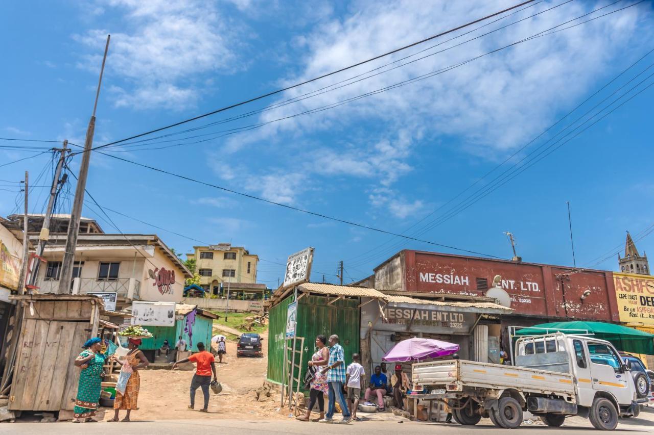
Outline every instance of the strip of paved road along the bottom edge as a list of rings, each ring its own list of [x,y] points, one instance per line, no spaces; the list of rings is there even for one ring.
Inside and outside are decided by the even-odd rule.
[[[649,420],[626,421],[618,425],[616,433],[641,434],[654,432],[654,423]],[[566,423],[567,424],[567,423]],[[186,433],[207,434],[237,434],[237,435],[276,435],[276,434],[311,434],[328,432],[332,434],[411,434],[411,435],[443,435],[470,434],[484,431],[506,434],[506,429],[492,425],[477,426],[443,425],[438,423],[414,423],[405,421],[363,421],[350,425],[318,425],[318,423],[300,423],[298,421],[247,421],[247,420],[167,420],[167,421],[135,421],[132,423],[3,423],[0,424],[0,434],[16,435],[88,435],[90,433],[113,432],[120,435],[180,435]],[[516,434],[596,434],[589,427],[530,427],[523,426],[511,433]]]

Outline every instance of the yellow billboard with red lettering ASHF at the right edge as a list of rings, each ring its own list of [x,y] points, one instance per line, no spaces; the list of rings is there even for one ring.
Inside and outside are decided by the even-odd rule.
[[[654,276],[613,272],[620,321],[654,327]]]

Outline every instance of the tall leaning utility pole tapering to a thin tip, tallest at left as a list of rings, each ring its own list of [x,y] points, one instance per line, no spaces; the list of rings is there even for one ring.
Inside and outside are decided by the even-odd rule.
[[[75,262],[75,248],[77,247],[77,233],[80,229],[80,217],[82,217],[82,204],[84,203],[84,191],[86,190],[86,176],[88,176],[88,165],[91,159],[91,148],[93,147],[93,135],[95,133],[95,109],[97,108],[97,99],[100,97],[100,85],[102,84],[102,74],[105,71],[105,61],[107,61],[109,39],[111,39],[111,35],[107,35],[105,56],[102,58],[100,78],[97,82],[97,91],[95,91],[93,114],[91,115],[91,119],[88,121],[88,129],[86,129],[86,140],[84,140],[84,151],[82,152],[82,164],[80,165],[80,173],[77,177],[77,188],[75,189],[75,202],[73,202],[71,219],[68,223],[68,236],[66,238],[66,248],[63,253],[63,262],[61,263],[59,291],[57,292],[60,295],[70,293],[71,291],[73,263]]]

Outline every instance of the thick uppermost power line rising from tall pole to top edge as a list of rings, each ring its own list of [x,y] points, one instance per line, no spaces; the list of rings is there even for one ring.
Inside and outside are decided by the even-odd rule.
[[[479,19],[474,20],[474,21],[472,21],[472,22],[468,22],[468,23],[466,23],[466,24],[459,25],[458,27],[454,27],[453,29],[449,29],[449,30],[447,30],[447,31],[443,31],[443,32],[438,33],[438,34],[436,34],[436,35],[433,35],[433,36],[431,36],[431,37],[428,37],[428,38],[425,38],[425,39],[419,40],[419,41],[417,41],[417,42],[413,42],[413,43],[411,43],[411,44],[408,44],[408,45],[402,46],[402,47],[400,47],[400,48],[396,48],[396,49],[394,49],[394,50],[391,50],[390,52],[386,52],[386,53],[384,53],[384,54],[380,54],[380,55],[378,55],[378,56],[371,57],[370,59],[366,59],[366,60],[364,60],[364,61],[360,61],[360,62],[358,62],[358,63],[354,63],[353,65],[349,65],[348,67],[343,67],[343,68],[341,68],[341,69],[337,69],[336,71],[328,72],[328,73],[326,73],[326,74],[322,74],[322,75],[317,76],[317,77],[315,77],[315,78],[311,78],[311,79],[309,79],[309,80],[304,80],[303,82],[296,83],[296,84],[293,84],[293,85],[291,85],[291,86],[286,86],[285,88],[277,89],[277,90],[275,90],[275,91],[271,91],[271,92],[265,93],[265,94],[263,94],[263,95],[259,95],[258,97],[253,97],[253,98],[247,99],[247,100],[245,100],[245,101],[241,101],[240,103],[235,103],[235,104],[233,104],[233,105],[229,105],[229,106],[225,106],[225,107],[219,108],[219,109],[213,110],[213,112],[208,112],[208,113],[205,113],[205,114],[202,114],[202,115],[194,116],[194,118],[189,118],[188,120],[179,121],[179,122],[176,122],[176,123],[173,123],[173,124],[170,124],[170,125],[166,125],[165,127],[160,127],[160,128],[158,128],[158,129],[154,129],[154,130],[146,131],[145,133],[140,133],[140,134],[138,134],[138,135],[134,135],[134,136],[131,136],[131,137],[128,137],[128,138],[124,138],[124,139],[121,139],[121,140],[116,140],[116,141],[114,141],[114,142],[109,142],[108,144],[104,144],[104,145],[101,145],[101,146],[97,146],[97,147],[95,147],[95,148],[92,148],[92,150],[99,150],[99,149],[101,149],[101,148],[105,148],[105,147],[107,147],[107,146],[111,146],[111,145],[114,145],[114,144],[118,144],[118,143],[120,143],[120,142],[126,142],[127,140],[131,140],[131,139],[135,139],[135,138],[143,137],[143,136],[146,136],[146,135],[150,135],[150,134],[152,134],[152,133],[156,133],[156,132],[158,132],[158,131],[162,131],[162,130],[165,130],[165,129],[169,129],[169,128],[171,128],[171,127],[177,127],[177,125],[182,125],[182,124],[185,124],[185,123],[188,123],[188,122],[191,122],[191,121],[199,120],[199,119],[201,119],[201,118],[206,118],[207,116],[211,116],[211,115],[214,115],[214,114],[216,114],[216,113],[224,112],[225,110],[230,110],[230,109],[235,108],[235,107],[238,107],[238,106],[247,105],[248,103],[252,103],[252,102],[254,102],[254,101],[258,101],[258,100],[260,100],[260,99],[264,99],[264,98],[267,98],[267,97],[271,97],[272,95],[276,95],[276,94],[278,94],[278,93],[282,93],[282,92],[284,92],[284,91],[288,91],[288,90],[290,90],[290,89],[298,88],[298,87],[300,87],[300,86],[303,86],[303,85],[305,85],[305,84],[309,84],[309,83],[311,83],[311,82],[315,82],[315,81],[320,80],[320,79],[322,79],[322,78],[326,78],[326,77],[328,77],[328,76],[332,76],[332,75],[334,75],[334,74],[338,74],[339,72],[347,71],[347,70],[349,70],[349,69],[353,69],[353,68],[358,67],[358,66],[360,66],[360,65],[364,65],[364,64],[366,64],[366,63],[370,63],[371,61],[375,61],[375,60],[377,60],[377,59],[381,59],[382,57],[390,56],[391,54],[395,54],[395,53],[400,52],[400,51],[402,51],[402,50],[406,50],[407,48],[411,48],[411,47],[413,47],[413,46],[417,46],[417,45],[419,45],[419,44],[422,44],[422,43],[424,43],[424,42],[427,42],[427,41],[429,41],[429,40],[436,39],[436,38],[441,37],[441,36],[443,36],[443,35],[447,35],[448,33],[453,33],[453,32],[455,32],[455,31],[457,31],[457,30],[464,29],[465,27],[469,27],[470,25],[477,24],[477,23],[479,23],[479,22],[482,22],[482,21],[488,20],[489,18],[492,18],[492,17],[494,17],[494,16],[498,16],[498,15],[504,14],[504,12],[508,12],[509,10],[513,10],[513,9],[515,9],[515,8],[519,8],[519,7],[524,6],[524,5],[528,4],[528,3],[532,3],[533,1],[534,1],[534,0],[523,1],[522,3],[519,3],[518,5],[515,5],[515,6],[512,6],[512,7],[509,7],[509,8],[506,8],[506,9],[504,9],[504,10],[500,10],[500,11],[498,11],[498,12],[494,12],[493,14],[487,15],[487,16],[485,16],[485,17],[483,17],[483,18],[479,18]]]

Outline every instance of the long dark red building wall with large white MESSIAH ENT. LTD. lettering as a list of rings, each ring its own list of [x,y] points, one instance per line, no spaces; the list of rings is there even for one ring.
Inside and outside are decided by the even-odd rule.
[[[484,296],[494,276],[511,296],[513,324],[534,325],[551,319],[619,321],[613,274],[404,250],[375,268],[374,287],[405,293]],[[527,318],[525,318],[527,317]]]

